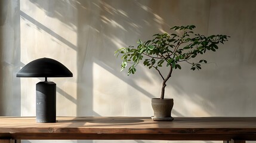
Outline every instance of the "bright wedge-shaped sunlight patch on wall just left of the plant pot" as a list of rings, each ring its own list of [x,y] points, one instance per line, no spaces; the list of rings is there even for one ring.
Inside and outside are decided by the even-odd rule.
[[[100,116],[151,116],[150,98],[94,63],[93,107]]]

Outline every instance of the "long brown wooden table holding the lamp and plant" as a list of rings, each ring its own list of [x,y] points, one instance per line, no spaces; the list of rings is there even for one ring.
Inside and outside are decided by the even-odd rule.
[[[256,117],[57,117],[36,123],[35,117],[0,117],[0,142],[19,139],[150,139],[245,142],[256,140]]]

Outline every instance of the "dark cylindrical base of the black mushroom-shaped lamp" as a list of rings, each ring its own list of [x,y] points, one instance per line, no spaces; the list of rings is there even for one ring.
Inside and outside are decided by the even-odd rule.
[[[38,82],[36,84],[36,122],[56,122],[56,84]]]

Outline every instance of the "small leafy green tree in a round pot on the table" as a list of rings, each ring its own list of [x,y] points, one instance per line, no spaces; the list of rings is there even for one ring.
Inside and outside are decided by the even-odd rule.
[[[157,33],[153,35],[152,40],[146,42],[139,40],[137,48],[128,46],[115,51],[117,57],[119,54],[122,55],[121,71],[129,65],[128,75],[134,74],[138,63],[142,61],[144,66],[158,71],[162,79],[162,90],[160,98],[152,99],[153,120],[173,119],[171,117],[173,99],[164,98],[166,82],[172,76],[172,70],[181,69],[180,63],[190,64],[192,66],[191,70],[201,70],[201,64],[206,64],[207,61],[200,59],[195,63],[192,62],[192,59],[205,54],[207,51],[215,52],[218,49],[218,44],[224,43],[229,38],[226,35],[204,36],[194,34],[193,29],[195,27],[193,25],[174,26],[171,28],[171,30],[174,30],[171,34]],[[166,76],[160,70],[162,66],[169,68]]]

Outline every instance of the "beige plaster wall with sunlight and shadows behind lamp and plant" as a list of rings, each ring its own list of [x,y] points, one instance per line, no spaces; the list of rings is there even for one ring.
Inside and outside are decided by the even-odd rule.
[[[184,64],[173,72],[166,89],[166,97],[174,98],[172,115],[256,116],[254,5],[253,0],[1,1],[0,115],[35,116],[35,85],[43,79],[20,79],[16,73],[49,57],[74,75],[50,78],[57,83],[57,116],[152,116],[150,98],[161,89],[158,73],[140,65],[127,76],[114,51],[172,26],[195,24],[198,33],[231,38],[204,55],[209,64],[203,70]]]

